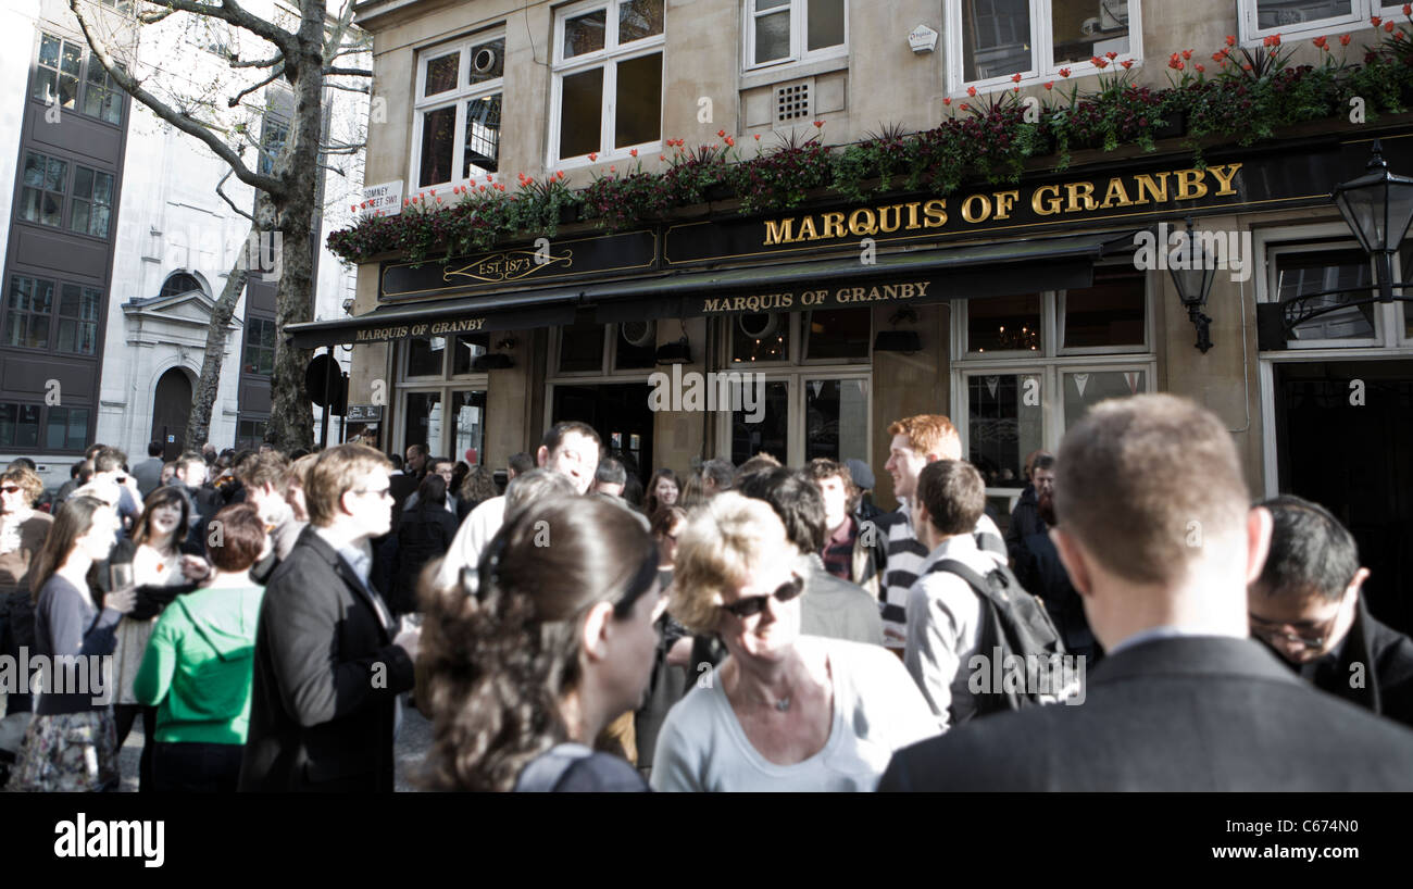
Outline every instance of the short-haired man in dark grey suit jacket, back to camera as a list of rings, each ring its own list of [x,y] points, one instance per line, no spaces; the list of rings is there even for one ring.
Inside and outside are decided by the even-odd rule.
[[[1413,732],[1249,639],[1272,519],[1219,418],[1174,396],[1094,407],[1060,448],[1054,502],[1051,537],[1109,656],[1077,705],[906,748],[880,790],[1413,790]]]

